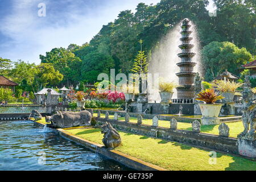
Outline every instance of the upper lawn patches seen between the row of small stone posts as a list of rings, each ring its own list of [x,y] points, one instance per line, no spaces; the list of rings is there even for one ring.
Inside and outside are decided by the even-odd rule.
[[[97,113],[93,114],[94,117],[97,117]],[[105,118],[105,114],[101,114],[102,118]],[[114,119],[114,115],[109,115],[110,119]],[[125,121],[124,117],[118,118],[119,121]],[[137,118],[130,117],[130,122],[137,123]],[[144,125],[152,125],[152,119],[143,119],[142,123]],[[163,121],[159,120],[158,125],[160,127],[167,127],[170,128],[170,122],[169,121]],[[226,125],[229,126],[229,137],[237,138],[237,135],[240,134],[243,131],[243,124],[242,121],[237,122],[228,122]],[[204,125],[201,126],[201,133],[208,133],[213,135],[218,135],[218,126],[219,125]],[[191,123],[183,123],[183,122],[177,122],[177,129],[179,130],[188,130],[192,131]]]

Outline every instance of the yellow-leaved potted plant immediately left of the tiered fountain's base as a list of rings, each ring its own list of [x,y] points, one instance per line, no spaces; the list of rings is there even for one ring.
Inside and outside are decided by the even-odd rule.
[[[174,94],[174,89],[178,85],[175,84],[175,82],[164,82],[164,81],[159,81],[159,94],[161,97],[161,102],[167,102],[170,103],[172,99],[172,94]]]

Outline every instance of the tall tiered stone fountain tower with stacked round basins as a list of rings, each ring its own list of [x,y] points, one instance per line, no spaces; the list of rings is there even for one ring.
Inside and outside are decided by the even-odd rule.
[[[193,68],[196,63],[192,62],[192,57],[196,55],[196,53],[191,52],[193,48],[193,44],[191,44],[191,40],[193,39],[189,35],[191,35],[192,31],[189,30],[191,24],[189,24],[189,19],[184,19],[181,24],[182,31],[180,34],[182,37],[180,38],[182,44],[179,46],[181,49],[181,53],[178,56],[181,58],[181,62],[177,63],[177,66],[180,67],[180,72],[176,73],[177,77],[179,77],[179,87],[177,87],[177,99],[181,100],[189,100],[195,98],[195,85],[194,79],[196,73],[193,72]]]

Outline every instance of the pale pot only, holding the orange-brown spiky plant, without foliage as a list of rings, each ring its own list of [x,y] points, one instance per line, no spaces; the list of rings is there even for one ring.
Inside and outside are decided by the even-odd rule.
[[[220,124],[221,104],[199,104],[203,117],[201,118],[201,125],[218,125]]]

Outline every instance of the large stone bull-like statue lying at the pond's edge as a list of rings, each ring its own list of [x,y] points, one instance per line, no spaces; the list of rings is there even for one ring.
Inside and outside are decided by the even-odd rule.
[[[87,110],[76,113],[70,111],[57,111],[57,114],[53,114],[51,117],[46,117],[46,122],[51,123],[48,126],[52,128],[86,126],[90,125],[91,120],[92,114]]]

